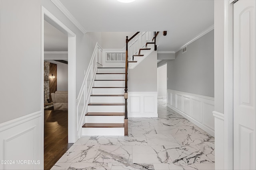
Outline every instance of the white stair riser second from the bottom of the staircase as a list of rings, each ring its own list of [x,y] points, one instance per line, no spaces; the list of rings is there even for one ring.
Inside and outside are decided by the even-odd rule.
[[[124,116],[85,116],[85,123],[124,123]]]

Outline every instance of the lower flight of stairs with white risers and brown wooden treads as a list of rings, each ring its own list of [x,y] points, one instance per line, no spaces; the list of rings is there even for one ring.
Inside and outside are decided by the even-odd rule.
[[[82,135],[124,136],[125,68],[98,68]]]

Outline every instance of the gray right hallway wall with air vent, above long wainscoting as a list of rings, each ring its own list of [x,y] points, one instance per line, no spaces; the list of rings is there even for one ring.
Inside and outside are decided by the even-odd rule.
[[[167,88],[214,97],[214,30],[178,51],[175,60],[167,62]]]

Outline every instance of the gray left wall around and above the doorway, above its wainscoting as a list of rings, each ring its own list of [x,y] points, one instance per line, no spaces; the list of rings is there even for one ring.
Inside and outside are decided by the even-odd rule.
[[[41,109],[41,6],[76,34],[76,95],[101,33],[85,35],[50,0],[1,0],[0,123]],[[15,62],[14,62],[15,61]]]

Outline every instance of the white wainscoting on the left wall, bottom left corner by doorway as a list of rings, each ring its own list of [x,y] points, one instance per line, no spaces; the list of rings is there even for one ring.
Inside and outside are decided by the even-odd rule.
[[[2,164],[1,162],[0,169],[36,170],[44,168],[41,157],[44,155],[42,121],[42,111],[37,111],[0,124],[0,160],[14,161],[14,164]],[[21,164],[24,160],[33,162]]]

